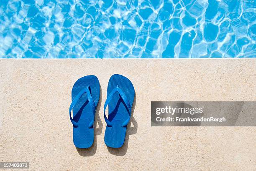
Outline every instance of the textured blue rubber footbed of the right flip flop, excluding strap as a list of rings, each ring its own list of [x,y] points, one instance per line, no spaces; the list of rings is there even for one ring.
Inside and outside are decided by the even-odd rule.
[[[125,96],[128,98],[131,106],[135,96],[135,91],[131,81],[123,75],[112,75],[108,82],[107,97],[111,91],[118,85],[122,89]],[[112,100],[108,104],[108,120],[111,127],[106,127],[105,131],[105,144],[112,148],[120,148],[125,141],[126,127],[122,124],[129,118],[128,108],[126,108],[123,99],[118,93],[115,93]],[[130,111],[131,113],[131,111]]]

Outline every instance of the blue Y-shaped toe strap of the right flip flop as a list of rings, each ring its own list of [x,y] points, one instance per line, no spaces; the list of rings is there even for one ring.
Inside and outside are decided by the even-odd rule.
[[[106,100],[106,102],[105,102],[105,104],[104,104],[104,118],[105,118],[105,121],[106,121],[106,123],[107,123],[107,126],[108,126],[108,127],[111,127],[112,124],[111,124],[111,122],[108,120],[108,118],[107,118],[107,116],[106,116],[106,113],[105,113],[105,110],[106,110],[106,108],[107,108],[107,106],[108,106],[108,103],[112,100],[112,98],[113,98],[113,96],[114,96],[115,93],[119,93],[119,94],[120,94],[121,98],[122,98],[123,101],[124,101],[125,106],[128,108],[129,118],[128,118],[126,121],[124,121],[124,122],[123,122],[123,125],[122,125],[122,127],[125,127],[125,126],[128,125],[128,123],[129,123],[129,121],[130,121],[130,118],[131,118],[131,104],[130,104],[128,98],[125,96],[125,93],[123,93],[122,89],[119,88],[118,85],[116,86],[116,88],[114,88],[114,89],[111,91],[111,93],[109,94],[109,96],[108,96],[108,98],[107,98],[107,100]]]

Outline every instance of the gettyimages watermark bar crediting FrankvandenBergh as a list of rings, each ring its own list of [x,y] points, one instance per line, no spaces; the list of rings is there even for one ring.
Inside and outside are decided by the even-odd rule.
[[[256,102],[152,101],[151,126],[256,126]]]

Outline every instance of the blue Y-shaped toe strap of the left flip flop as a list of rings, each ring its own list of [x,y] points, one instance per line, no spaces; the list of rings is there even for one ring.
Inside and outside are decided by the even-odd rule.
[[[74,121],[74,119],[72,118],[72,116],[71,116],[71,111],[72,111],[73,107],[77,104],[78,100],[83,96],[84,93],[87,94],[87,98],[88,98],[89,104],[90,104],[90,106],[91,106],[91,108],[92,108],[93,115],[95,115],[96,106],[95,106],[95,103],[94,103],[94,101],[93,101],[93,99],[92,99],[92,95],[91,95],[91,92],[90,92],[89,88],[90,88],[90,85],[88,85],[87,88],[82,89],[82,90],[77,94],[77,96],[74,98],[74,100],[72,101],[72,103],[70,104],[70,107],[69,107],[69,118],[70,118],[70,121],[73,123],[73,126],[74,126],[74,127],[78,127],[78,123],[77,123],[76,121]],[[88,128],[92,128],[93,123],[94,123],[94,118],[93,118],[92,121],[89,123]]]

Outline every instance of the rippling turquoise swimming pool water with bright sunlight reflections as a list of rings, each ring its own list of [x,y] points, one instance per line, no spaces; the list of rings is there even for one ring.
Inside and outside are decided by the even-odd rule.
[[[0,0],[0,58],[243,57],[255,0]]]

